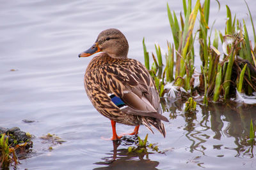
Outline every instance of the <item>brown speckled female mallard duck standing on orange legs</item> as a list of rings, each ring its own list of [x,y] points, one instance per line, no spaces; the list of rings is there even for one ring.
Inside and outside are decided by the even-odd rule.
[[[99,113],[111,120],[112,140],[120,139],[116,134],[116,122],[136,126],[131,134],[138,134],[141,124],[151,132],[150,125],[165,137],[164,124],[169,122],[161,115],[159,95],[154,80],[143,64],[128,59],[128,42],[118,29],[100,32],[91,48],[79,54],[93,57],[84,74],[84,87]]]

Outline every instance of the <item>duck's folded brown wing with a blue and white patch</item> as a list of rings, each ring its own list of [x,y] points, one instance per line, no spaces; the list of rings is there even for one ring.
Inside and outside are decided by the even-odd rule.
[[[104,68],[111,101],[127,114],[168,122],[166,117],[159,114],[159,96],[147,69],[136,60],[130,59],[129,64],[127,62]]]

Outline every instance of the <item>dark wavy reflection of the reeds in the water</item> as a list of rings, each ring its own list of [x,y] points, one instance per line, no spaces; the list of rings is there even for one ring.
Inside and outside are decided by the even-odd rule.
[[[184,118],[185,135],[191,141],[189,152],[198,151],[205,155],[205,150],[212,149],[207,148],[205,143],[213,138],[218,140],[216,145],[212,145],[214,149],[236,150],[235,157],[253,157],[253,145],[248,143],[248,136],[250,121],[251,119],[253,122],[256,120],[256,106],[237,104],[232,101],[226,104],[209,103],[209,106],[197,104],[196,109],[199,111],[184,113],[180,111],[183,107],[183,103],[180,101],[168,103],[168,100],[165,99],[163,105],[165,106],[164,111],[170,111],[170,118],[175,119],[177,115]],[[175,107],[177,108],[173,109]],[[214,136],[212,136],[212,132],[214,132]],[[227,138],[233,138],[236,147],[220,145],[219,141],[225,143]]]

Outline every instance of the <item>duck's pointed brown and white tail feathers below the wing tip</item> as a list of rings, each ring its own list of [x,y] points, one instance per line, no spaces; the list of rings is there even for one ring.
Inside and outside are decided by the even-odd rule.
[[[161,134],[163,134],[163,136],[165,138],[165,128],[164,128],[164,124],[163,124],[163,122],[161,122],[161,120],[159,120],[157,118],[152,118],[152,117],[143,117],[142,118],[142,124],[145,125],[145,127],[147,127],[147,129],[154,134],[154,132],[152,131],[152,129],[150,127],[150,125],[152,125]]]

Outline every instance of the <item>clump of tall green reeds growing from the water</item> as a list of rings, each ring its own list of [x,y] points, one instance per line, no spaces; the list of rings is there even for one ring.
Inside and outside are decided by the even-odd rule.
[[[241,23],[236,19],[236,15],[232,18],[230,8],[228,6],[226,8],[225,32],[215,30],[212,36],[212,28],[208,26],[210,0],[205,0],[203,4],[199,0],[196,1],[193,10],[191,0],[188,0],[188,4],[186,0],[183,0],[184,16],[180,13],[180,22],[167,4],[173,43],[167,43],[165,66],[163,66],[161,48],[156,45],[156,57],[152,53],[153,64],[150,67],[149,55],[145,39],[143,39],[145,66],[156,81],[159,96],[173,97],[170,96],[173,94],[170,90],[174,88],[174,92],[177,90],[187,92],[188,97],[199,95],[203,103],[207,105],[208,101],[227,101],[231,97],[236,97],[237,93],[255,95],[256,44],[253,45],[250,40],[244,20]],[[249,8],[248,12],[253,27],[254,42],[256,42]],[[200,13],[200,20],[199,28],[196,30],[195,22],[198,13]],[[202,62],[200,71],[195,71],[194,66],[195,41],[198,41],[200,45],[198,54]],[[223,53],[219,51],[219,43],[222,44]],[[170,85],[173,87],[170,88]]]

